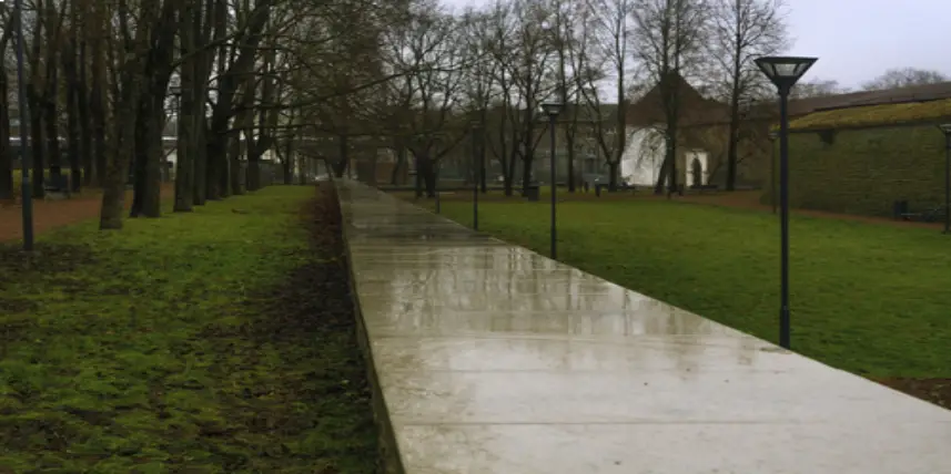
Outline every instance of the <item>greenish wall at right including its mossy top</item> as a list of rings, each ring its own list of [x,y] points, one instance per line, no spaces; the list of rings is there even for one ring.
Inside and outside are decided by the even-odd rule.
[[[944,135],[937,124],[945,121],[951,100],[841,109],[792,121],[790,206],[891,217],[896,200],[908,200],[912,212],[942,204]],[[767,188],[761,202],[770,195]]]

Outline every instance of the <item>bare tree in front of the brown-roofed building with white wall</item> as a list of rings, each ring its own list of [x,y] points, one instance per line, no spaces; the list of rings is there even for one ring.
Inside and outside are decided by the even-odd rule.
[[[655,193],[677,188],[677,131],[680,124],[680,93],[684,76],[699,64],[707,32],[709,6],[706,0],[636,0],[631,17],[634,42],[641,64],[657,84],[665,116],[664,163]]]

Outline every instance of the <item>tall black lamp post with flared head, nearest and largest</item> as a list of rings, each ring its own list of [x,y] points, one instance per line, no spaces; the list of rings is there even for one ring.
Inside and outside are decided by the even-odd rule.
[[[791,347],[789,313],[789,92],[817,58],[765,56],[756,65],[779,92],[779,223],[780,223],[780,307],[779,346]]]

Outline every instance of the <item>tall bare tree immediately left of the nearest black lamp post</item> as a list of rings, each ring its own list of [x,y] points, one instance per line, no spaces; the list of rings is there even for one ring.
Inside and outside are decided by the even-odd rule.
[[[782,0],[714,0],[709,50],[730,105],[727,190],[736,189],[741,106],[760,95],[762,74],[752,60],[773,54],[787,43]]]

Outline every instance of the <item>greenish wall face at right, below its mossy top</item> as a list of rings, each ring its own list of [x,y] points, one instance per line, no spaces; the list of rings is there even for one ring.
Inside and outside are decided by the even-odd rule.
[[[792,207],[891,217],[893,203],[908,200],[911,210],[927,210],[944,198],[944,137],[934,125],[839,131],[824,140],[793,133],[789,169]],[[762,199],[769,202],[768,187]]]

